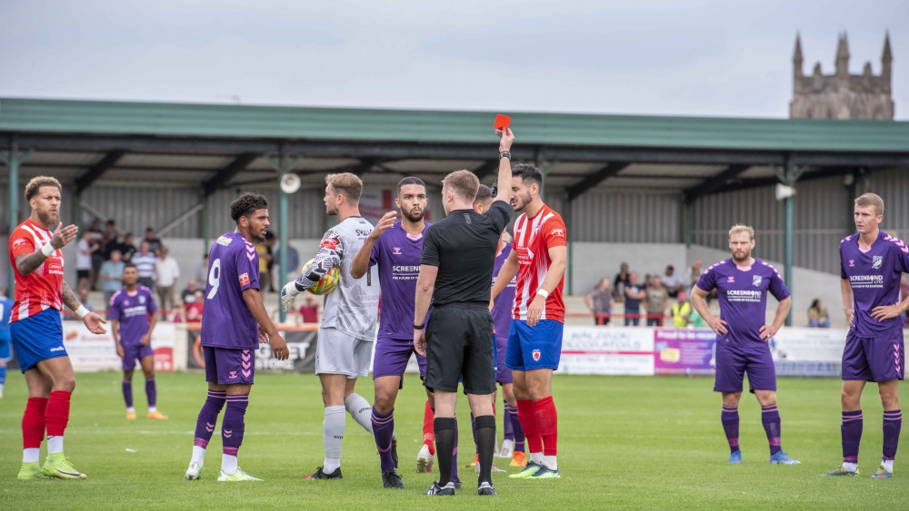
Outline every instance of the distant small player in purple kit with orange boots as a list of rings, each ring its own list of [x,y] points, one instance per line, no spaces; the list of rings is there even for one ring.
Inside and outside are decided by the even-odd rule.
[[[135,420],[133,408],[133,369],[135,360],[145,374],[145,397],[148,398],[146,418],[165,420],[167,416],[155,407],[155,350],[152,349],[152,331],[157,323],[158,308],[152,290],[138,285],[139,271],[127,262],[123,267],[124,289],[114,293],[110,303],[111,333],[114,334],[116,354],[123,359],[123,398],[126,418]]]

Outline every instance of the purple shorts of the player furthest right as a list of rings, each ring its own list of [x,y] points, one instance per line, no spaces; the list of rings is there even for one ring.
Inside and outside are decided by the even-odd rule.
[[[858,337],[852,330],[843,349],[843,379],[889,381],[905,376],[903,330],[877,338]]]

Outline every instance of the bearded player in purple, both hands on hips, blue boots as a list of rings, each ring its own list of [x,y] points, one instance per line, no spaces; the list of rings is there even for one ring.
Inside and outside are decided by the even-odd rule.
[[[761,422],[770,443],[770,463],[799,465],[783,452],[780,413],[776,408],[776,369],[767,341],[783,326],[792,306],[789,290],[780,274],[763,260],[751,257],[754,229],[735,224],[729,230],[729,250],[733,257],[717,262],[701,275],[691,290],[697,313],[716,332],[716,379],[714,392],[723,393],[720,420],[731,455],[729,463],[741,463],[738,443],[738,404],[742,398],[742,379],[748,373],[748,386],[761,404]],[[720,318],[715,318],[707,295],[716,289]],[[764,323],[767,291],[779,301],[774,322]]]

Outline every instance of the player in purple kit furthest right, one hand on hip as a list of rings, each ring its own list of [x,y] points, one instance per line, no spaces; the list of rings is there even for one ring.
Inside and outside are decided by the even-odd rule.
[[[889,479],[900,439],[899,381],[905,377],[903,313],[909,297],[900,298],[900,279],[909,272],[909,247],[879,229],[884,201],[874,193],[855,199],[857,233],[840,242],[840,290],[849,333],[843,349],[843,465],[826,476],[858,476],[862,440],[862,390],[877,383],[884,405],[884,456],[872,477]]]

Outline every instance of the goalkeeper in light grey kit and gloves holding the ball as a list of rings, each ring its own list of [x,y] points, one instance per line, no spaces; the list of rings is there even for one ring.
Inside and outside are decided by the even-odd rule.
[[[294,297],[312,288],[329,271],[338,269],[335,290],[325,296],[325,312],[315,348],[315,374],[322,384],[325,421],[322,423],[325,462],[304,479],[341,479],[341,445],[345,409],[357,424],[373,435],[373,408],[355,393],[356,378],[369,374],[373,354],[379,286],[371,275],[351,275],[354,258],[373,225],[360,216],[363,182],[350,172],[325,176],[325,211],[338,216],[338,224],[325,232],[313,264],[281,290],[281,307],[290,308]]]

